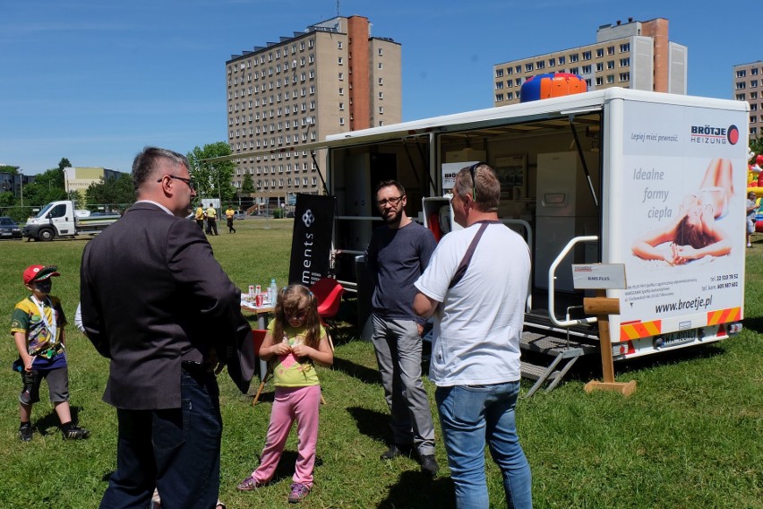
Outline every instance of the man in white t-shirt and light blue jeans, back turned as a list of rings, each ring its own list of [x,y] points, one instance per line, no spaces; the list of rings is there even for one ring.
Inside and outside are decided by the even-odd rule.
[[[451,206],[464,229],[442,237],[415,283],[416,314],[434,315],[429,376],[457,507],[489,505],[485,441],[509,505],[532,506],[530,467],[514,418],[530,255],[525,240],[498,220],[500,196],[493,168],[477,163],[459,171]]]

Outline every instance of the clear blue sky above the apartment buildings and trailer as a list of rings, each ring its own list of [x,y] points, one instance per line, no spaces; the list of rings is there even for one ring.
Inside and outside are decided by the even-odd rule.
[[[689,93],[731,99],[732,66],[763,60],[757,10],[750,0],[340,3],[402,45],[403,120],[490,108],[493,65],[591,44],[599,25],[629,17],[670,20],[670,39],[689,47]],[[145,145],[185,153],[226,141],[226,60],[336,13],[336,0],[4,2],[0,163],[36,174],[65,157],[129,171]]]

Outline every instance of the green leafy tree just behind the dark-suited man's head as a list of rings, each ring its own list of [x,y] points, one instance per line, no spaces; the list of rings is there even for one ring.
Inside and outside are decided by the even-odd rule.
[[[202,202],[206,198],[220,198],[222,202],[230,202],[236,197],[236,187],[231,184],[236,164],[230,160],[207,161],[231,153],[226,142],[215,142],[204,145],[203,149],[197,145],[186,154],[188,164],[191,165],[188,171]]]

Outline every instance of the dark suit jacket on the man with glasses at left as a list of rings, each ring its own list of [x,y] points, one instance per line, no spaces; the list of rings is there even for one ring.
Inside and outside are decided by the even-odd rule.
[[[179,408],[181,362],[201,362],[211,347],[248,390],[254,351],[241,292],[194,221],[135,203],[85,246],[80,291],[85,332],[111,359],[107,403]]]

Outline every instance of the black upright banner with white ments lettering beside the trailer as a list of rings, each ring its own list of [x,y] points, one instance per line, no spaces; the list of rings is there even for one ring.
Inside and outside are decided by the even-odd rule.
[[[289,283],[305,286],[329,275],[336,196],[297,194]]]

